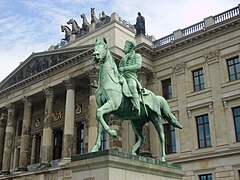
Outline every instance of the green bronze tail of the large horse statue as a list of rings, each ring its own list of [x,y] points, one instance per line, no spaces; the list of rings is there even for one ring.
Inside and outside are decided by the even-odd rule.
[[[162,117],[174,127],[182,129],[182,125],[178,122],[177,118],[171,113],[167,101],[162,96],[157,96],[157,98],[160,101]]]

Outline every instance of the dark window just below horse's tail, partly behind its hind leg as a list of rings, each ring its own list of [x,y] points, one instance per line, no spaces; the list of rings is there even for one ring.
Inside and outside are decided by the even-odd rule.
[[[166,154],[176,153],[175,129],[170,124],[164,124]]]

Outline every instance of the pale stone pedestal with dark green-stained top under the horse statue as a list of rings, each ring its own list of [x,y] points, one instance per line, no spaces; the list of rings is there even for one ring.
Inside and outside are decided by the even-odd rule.
[[[179,165],[114,150],[73,156],[69,168],[73,180],[177,180],[184,175]]]

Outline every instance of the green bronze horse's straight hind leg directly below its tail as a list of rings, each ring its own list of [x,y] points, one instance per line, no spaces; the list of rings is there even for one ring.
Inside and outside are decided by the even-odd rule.
[[[160,117],[158,117],[157,115],[153,115],[153,119],[151,120],[151,122],[153,123],[160,139],[160,146],[161,146],[160,160],[165,162],[166,161],[165,136],[164,136],[163,125],[160,122],[160,120],[161,120]]]

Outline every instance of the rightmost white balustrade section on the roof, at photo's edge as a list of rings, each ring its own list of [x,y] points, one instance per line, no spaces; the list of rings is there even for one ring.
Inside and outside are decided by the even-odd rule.
[[[239,10],[239,6],[235,7],[235,8],[232,8],[228,11],[225,11],[221,14],[218,14],[216,16],[213,17],[214,19],[214,24],[218,24],[220,22],[223,22],[225,20],[228,20],[228,19],[231,19],[235,16],[238,16],[240,13],[240,10]]]

